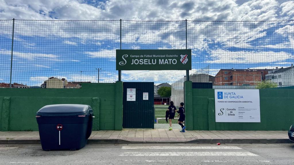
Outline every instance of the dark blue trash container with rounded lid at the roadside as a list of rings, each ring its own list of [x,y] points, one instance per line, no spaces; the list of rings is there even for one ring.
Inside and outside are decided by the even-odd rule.
[[[92,132],[93,110],[89,105],[46,105],[36,114],[42,149],[78,150]]]

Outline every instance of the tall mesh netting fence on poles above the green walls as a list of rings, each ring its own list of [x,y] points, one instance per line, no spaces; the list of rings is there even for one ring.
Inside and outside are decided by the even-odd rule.
[[[294,85],[294,21],[0,20],[0,87],[112,83],[116,49],[186,48],[192,49],[193,82]],[[184,75],[122,71],[122,80],[172,83]]]

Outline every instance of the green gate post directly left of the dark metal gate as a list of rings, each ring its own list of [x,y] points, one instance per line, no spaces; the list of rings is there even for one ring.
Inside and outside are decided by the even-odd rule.
[[[115,82],[115,130],[123,129],[123,82]]]

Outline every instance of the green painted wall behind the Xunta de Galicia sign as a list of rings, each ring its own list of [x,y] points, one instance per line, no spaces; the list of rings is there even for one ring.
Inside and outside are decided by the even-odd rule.
[[[288,130],[294,124],[294,89],[261,89],[260,123],[215,122],[214,89],[193,89],[194,130]]]

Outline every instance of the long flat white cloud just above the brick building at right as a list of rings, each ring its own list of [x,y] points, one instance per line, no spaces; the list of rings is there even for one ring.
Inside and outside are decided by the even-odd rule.
[[[212,50],[210,57],[212,60],[206,63],[272,63],[293,59],[293,55],[286,52],[273,51],[229,51],[223,49]]]

